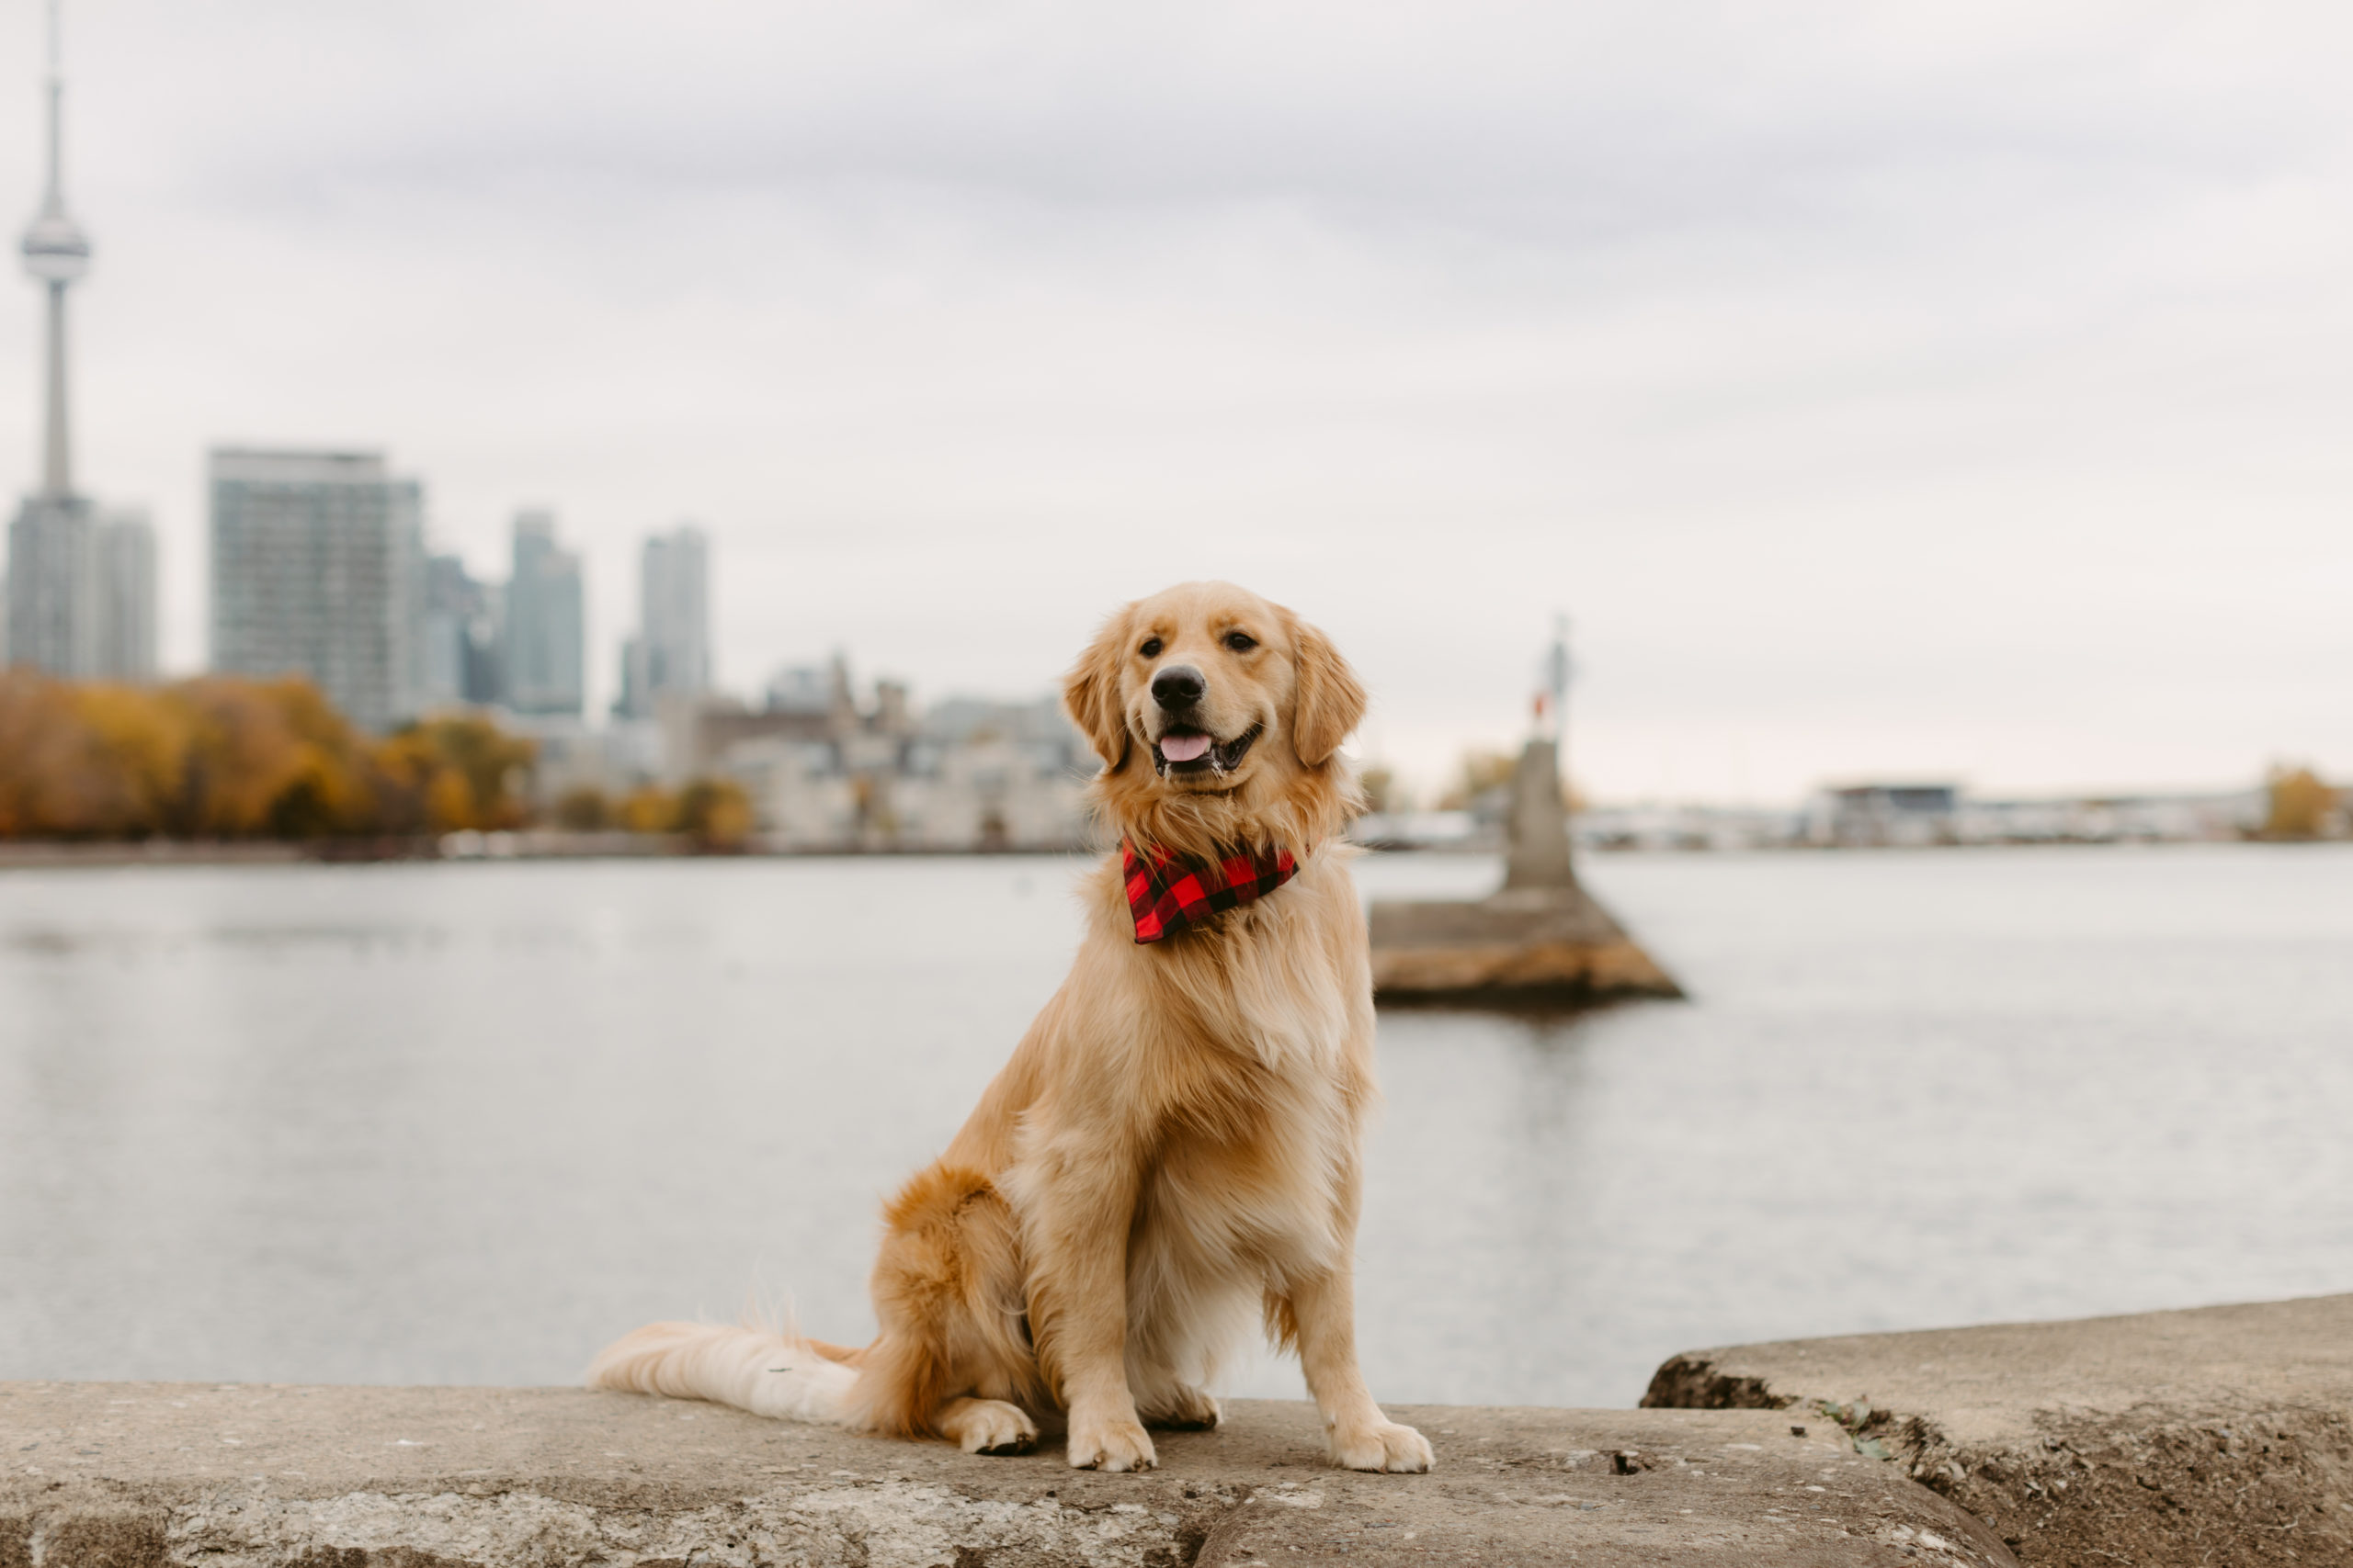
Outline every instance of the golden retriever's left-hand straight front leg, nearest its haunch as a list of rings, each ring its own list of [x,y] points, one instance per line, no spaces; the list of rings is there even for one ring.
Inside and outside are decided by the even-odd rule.
[[[1151,1469],[1127,1387],[1127,1227],[1134,1175],[1054,1161],[1028,1215],[1031,1328],[1071,1410],[1075,1469]]]

